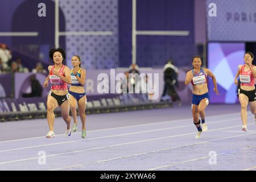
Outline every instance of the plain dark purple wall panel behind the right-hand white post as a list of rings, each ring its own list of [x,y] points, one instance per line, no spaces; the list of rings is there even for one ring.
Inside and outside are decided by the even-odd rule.
[[[119,2],[119,65],[131,64],[131,1]],[[137,64],[163,67],[168,58],[178,66],[190,64],[195,54],[194,1],[137,1],[137,30],[189,31],[189,36],[137,36]],[[121,24],[125,22],[125,24]]]

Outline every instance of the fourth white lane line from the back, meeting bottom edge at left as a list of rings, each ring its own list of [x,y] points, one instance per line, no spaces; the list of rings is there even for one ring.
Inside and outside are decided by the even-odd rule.
[[[254,132],[254,133],[256,133],[256,132]],[[191,144],[184,144],[184,145],[182,145],[182,146],[163,148],[163,149],[160,149],[160,150],[149,151],[149,152],[142,152],[142,153],[139,153],[139,154],[132,154],[132,155],[126,155],[126,156],[120,156],[120,157],[112,158],[112,159],[98,160],[98,161],[96,161],[96,162],[83,163],[83,164],[76,164],[76,165],[74,165],[74,166],[68,166],[68,167],[63,167],[63,168],[55,168],[55,169],[51,169],[50,171],[63,170],[63,169],[76,168],[76,167],[84,167],[84,166],[89,165],[89,164],[104,163],[104,162],[109,162],[109,161],[111,161],[111,160],[125,159],[125,158],[130,158],[130,157],[138,156],[138,155],[145,155],[145,154],[150,154],[150,153],[154,153],[154,152],[161,152],[161,151],[166,151],[166,150],[172,150],[172,149],[176,149],[176,148],[187,147],[187,146],[193,146],[193,145],[196,145],[196,144],[203,144],[203,143],[214,142],[214,141],[224,140],[224,139],[229,139],[229,138],[243,137],[243,136],[251,135],[251,134],[253,134],[253,133],[250,133],[250,134],[243,134],[243,135],[236,135],[236,136],[232,136],[232,137],[218,138],[218,139],[208,140],[208,141],[204,141],[204,142],[197,142],[197,143],[191,143]],[[208,156],[208,157],[209,157],[209,156]]]

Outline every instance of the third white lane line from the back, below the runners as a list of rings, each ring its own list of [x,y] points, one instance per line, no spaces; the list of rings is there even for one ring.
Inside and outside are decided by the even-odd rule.
[[[249,124],[249,125],[253,125],[253,124]],[[221,129],[213,129],[213,130],[209,130],[207,131],[208,133],[211,131],[220,131],[220,130],[225,130],[225,129],[232,129],[234,127],[238,127],[241,125],[236,125],[236,126],[231,126],[231,127],[222,127]],[[127,144],[134,144],[134,143],[141,143],[141,142],[150,142],[150,141],[154,141],[154,140],[161,140],[161,139],[167,139],[167,138],[174,138],[174,137],[183,137],[186,135],[195,135],[195,132],[193,133],[186,133],[186,134],[179,134],[179,135],[172,135],[172,136],[168,136],[168,137],[160,137],[160,138],[153,138],[153,139],[147,139],[147,140],[139,140],[139,141],[135,141],[135,142],[127,142],[127,143],[120,143],[120,144],[113,144],[110,146],[103,146],[103,147],[96,147],[96,148],[88,148],[85,150],[77,150],[77,151],[72,151],[72,152],[63,152],[60,154],[52,154],[52,155],[46,155],[44,157],[52,157],[52,156],[58,156],[58,155],[64,155],[64,154],[73,154],[73,153],[78,153],[78,152],[84,152],[84,151],[91,151],[91,150],[98,150],[98,149],[102,149],[102,148],[109,148],[109,147],[116,147],[116,146],[123,146],[123,145],[127,145]],[[7,163],[15,163],[15,162],[21,162],[21,161],[26,161],[26,160],[32,160],[32,159],[38,159],[39,157],[34,157],[34,158],[26,158],[26,159],[18,159],[18,160],[9,160],[7,162],[2,162],[0,164],[7,164]]]

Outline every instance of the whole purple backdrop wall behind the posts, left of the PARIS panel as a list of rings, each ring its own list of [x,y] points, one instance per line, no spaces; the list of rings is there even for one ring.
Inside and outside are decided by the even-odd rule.
[[[16,51],[31,55],[36,61],[48,63],[46,49],[54,45],[54,1],[44,1],[47,6],[47,16],[44,18],[39,18],[36,14],[39,2],[42,1],[0,2],[0,15],[5,17],[0,20],[0,31],[39,31],[40,34],[39,38],[0,37],[0,42],[7,43]],[[114,32],[113,36],[104,37],[60,36],[60,46],[67,51],[67,64],[70,65],[72,55],[76,54],[81,56],[84,68],[128,67],[131,63],[131,2],[130,0],[61,0],[61,31]],[[174,59],[176,65],[189,64],[189,60],[195,54],[193,18],[193,0],[137,1],[138,30],[190,31],[189,36],[184,37],[138,36],[139,66],[162,67],[169,57]],[[35,57],[31,52],[40,56]]]

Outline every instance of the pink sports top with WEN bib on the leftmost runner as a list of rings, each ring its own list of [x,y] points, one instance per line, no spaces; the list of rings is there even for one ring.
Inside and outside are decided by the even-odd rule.
[[[52,90],[66,90],[68,89],[68,85],[66,82],[64,82],[63,80],[61,80],[60,77],[53,75],[52,71],[55,68],[55,65],[52,66],[51,71],[49,73],[49,81],[51,82],[52,86],[51,89]],[[60,68],[60,75],[64,76],[63,70],[65,68],[65,65],[63,64],[62,67]]]

